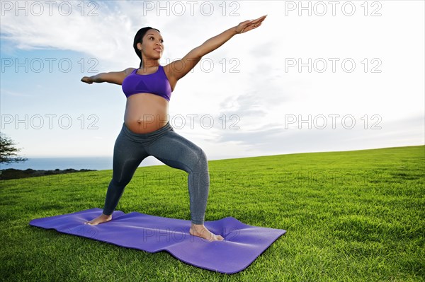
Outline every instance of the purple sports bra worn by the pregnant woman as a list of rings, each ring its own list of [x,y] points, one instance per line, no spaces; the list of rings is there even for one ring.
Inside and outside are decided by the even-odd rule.
[[[137,69],[124,78],[122,88],[128,98],[137,93],[152,93],[159,95],[169,101],[171,97],[171,86],[166,78],[164,67],[158,66],[157,72],[153,74],[136,74]]]

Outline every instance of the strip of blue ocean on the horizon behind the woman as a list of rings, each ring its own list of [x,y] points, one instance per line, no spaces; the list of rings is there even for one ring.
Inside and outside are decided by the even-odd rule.
[[[0,170],[14,168],[16,170],[66,170],[73,168],[74,170],[112,170],[112,157],[67,157],[67,158],[28,158],[22,163],[11,163],[8,165],[0,164]],[[162,165],[159,160],[149,156],[139,165]]]

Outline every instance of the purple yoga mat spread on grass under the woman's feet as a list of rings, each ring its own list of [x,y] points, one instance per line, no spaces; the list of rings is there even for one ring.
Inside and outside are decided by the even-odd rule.
[[[182,262],[224,274],[246,269],[286,233],[283,229],[246,225],[236,218],[227,217],[219,221],[205,221],[208,230],[225,238],[224,241],[208,242],[189,234],[191,221],[137,212],[125,214],[122,211],[114,211],[113,219],[108,223],[84,224],[102,211],[101,208],[91,208],[37,218],[30,221],[30,225],[146,252],[167,251]]]

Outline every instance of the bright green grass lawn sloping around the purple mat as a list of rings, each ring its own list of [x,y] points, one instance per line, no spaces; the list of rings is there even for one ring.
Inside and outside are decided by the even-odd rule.
[[[206,221],[288,231],[219,274],[28,225],[102,208],[112,170],[0,182],[4,281],[424,281],[425,146],[213,160]],[[118,210],[190,219],[186,172],[138,168]],[[220,259],[220,258],[212,258]]]

